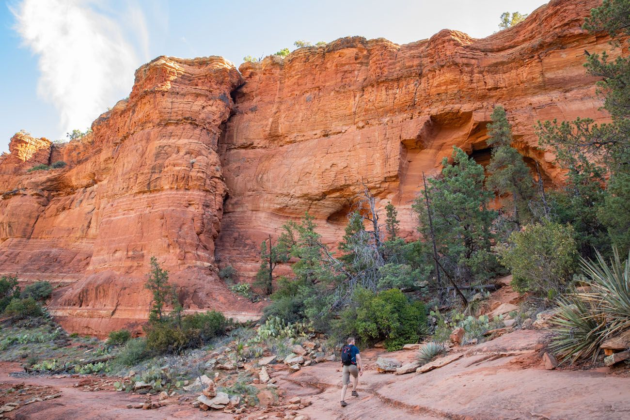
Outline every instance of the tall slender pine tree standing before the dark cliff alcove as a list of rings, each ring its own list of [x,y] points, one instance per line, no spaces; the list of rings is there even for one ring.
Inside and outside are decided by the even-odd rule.
[[[503,106],[495,106],[491,115],[492,123],[488,125],[490,139],[486,140],[492,147],[492,157],[488,164],[490,175],[486,186],[497,195],[510,195],[513,217],[512,222],[517,229],[530,220],[529,201],[534,198],[534,179],[525,164],[523,157],[512,147],[512,127],[508,123]]]

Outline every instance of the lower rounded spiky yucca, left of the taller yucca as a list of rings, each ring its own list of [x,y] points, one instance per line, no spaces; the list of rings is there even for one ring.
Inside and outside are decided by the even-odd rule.
[[[556,326],[550,347],[562,363],[589,357],[595,361],[606,332],[605,316],[597,302],[580,295],[560,297],[558,314],[551,322]]]

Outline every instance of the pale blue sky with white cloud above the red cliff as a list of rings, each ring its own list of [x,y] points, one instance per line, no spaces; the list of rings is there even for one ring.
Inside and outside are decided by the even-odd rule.
[[[9,0],[0,6],[0,152],[13,133],[60,139],[129,94],[134,70],[159,55],[245,55],[295,40],[350,35],[408,43],[444,28],[498,30],[504,11],[540,0],[168,1]]]

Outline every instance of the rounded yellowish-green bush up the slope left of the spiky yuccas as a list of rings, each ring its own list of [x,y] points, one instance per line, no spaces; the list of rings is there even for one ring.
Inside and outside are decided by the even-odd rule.
[[[509,241],[496,250],[501,264],[512,272],[512,285],[518,292],[547,297],[566,287],[577,257],[571,225],[527,225],[513,232]]]

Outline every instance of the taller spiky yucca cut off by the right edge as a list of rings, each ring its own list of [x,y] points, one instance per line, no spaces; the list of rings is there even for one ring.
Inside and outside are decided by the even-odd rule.
[[[617,247],[612,249],[610,265],[599,252],[597,260],[581,260],[582,270],[592,293],[585,293],[585,300],[596,302],[606,315],[607,334],[630,329],[630,251],[621,262]]]

